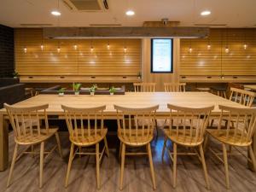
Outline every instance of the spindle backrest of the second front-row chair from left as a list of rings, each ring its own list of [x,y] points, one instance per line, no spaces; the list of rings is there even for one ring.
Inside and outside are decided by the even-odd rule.
[[[69,135],[74,140],[102,134],[103,111],[106,106],[96,108],[71,108],[61,105],[64,110]],[[99,124],[99,125],[98,125]]]

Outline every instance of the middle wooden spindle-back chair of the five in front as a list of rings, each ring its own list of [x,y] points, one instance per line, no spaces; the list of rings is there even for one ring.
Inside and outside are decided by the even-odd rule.
[[[153,188],[155,189],[154,166],[150,142],[154,137],[155,111],[159,106],[150,108],[124,108],[114,105],[117,110],[118,137],[120,140],[119,157],[121,156],[121,170],[119,189],[123,189],[123,178],[126,155],[148,155]],[[146,147],[147,153],[129,152],[129,148]]]

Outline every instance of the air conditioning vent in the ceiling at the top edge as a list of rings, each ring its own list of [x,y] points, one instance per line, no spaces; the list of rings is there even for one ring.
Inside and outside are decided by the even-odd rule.
[[[108,9],[107,0],[62,0],[73,11],[103,11]]]

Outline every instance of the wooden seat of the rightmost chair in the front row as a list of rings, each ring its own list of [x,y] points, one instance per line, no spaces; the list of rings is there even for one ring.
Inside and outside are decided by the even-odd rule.
[[[246,141],[246,137],[241,139],[241,134],[237,133],[235,137],[235,129],[230,128],[230,137],[226,137],[227,130],[216,130],[216,129],[207,129],[207,133],[210,134],[212,137],[217,139],[219,142],[238,146],[238,147],[246,147],[252,143],[252,140]]]

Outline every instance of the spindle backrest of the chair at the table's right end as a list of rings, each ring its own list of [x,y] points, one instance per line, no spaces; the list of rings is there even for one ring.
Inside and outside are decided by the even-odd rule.
[[[240,90],[234,87],[231,87],[230,91],[230,101],[238,102],[247,107],[252,107],[256,93],[248,90]]]

